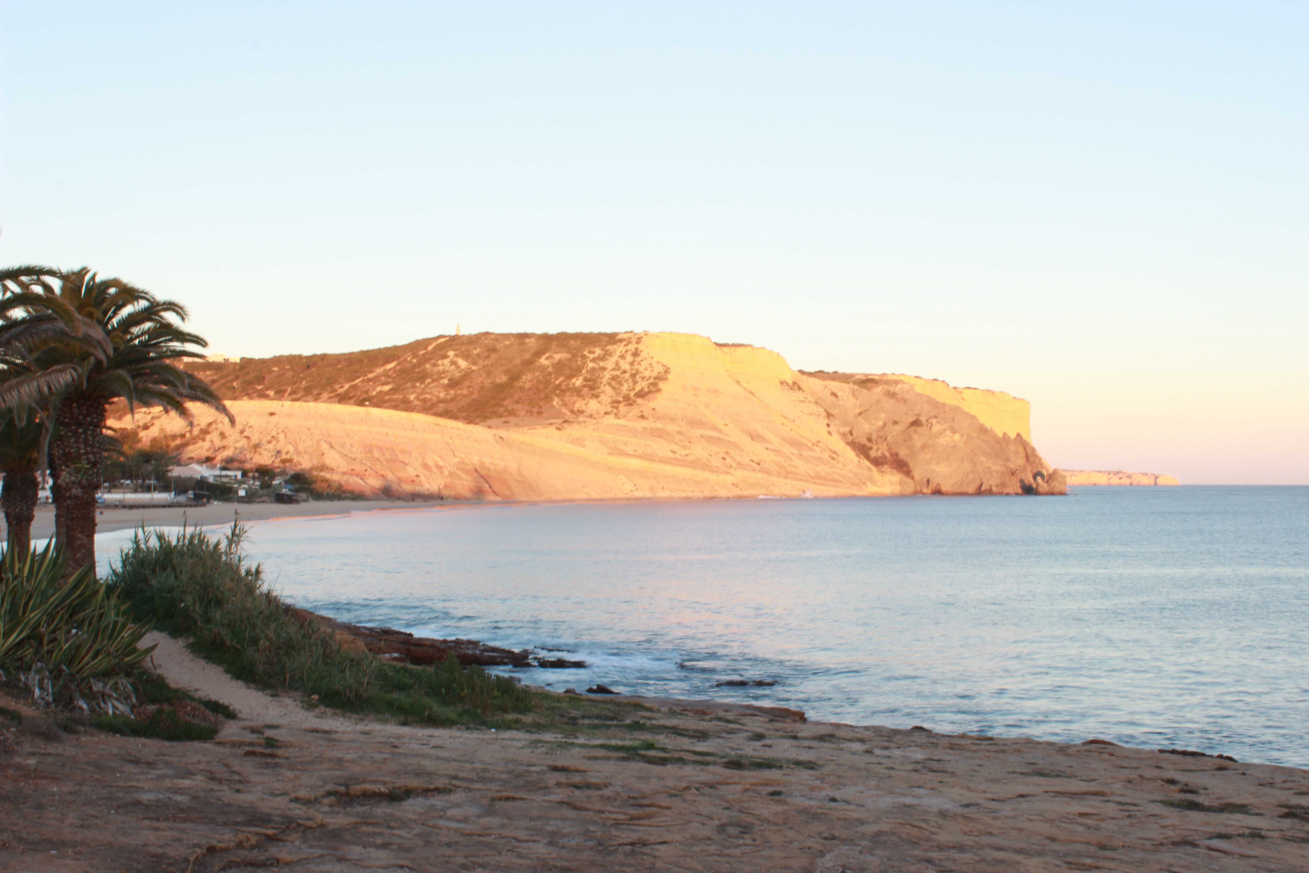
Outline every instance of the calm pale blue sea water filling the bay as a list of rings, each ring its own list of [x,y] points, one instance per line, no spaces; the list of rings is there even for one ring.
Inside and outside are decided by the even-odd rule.
[[[462,505],[249,551],[312,610],[588,661],[513,671],[556,690],[1309,766],[1304,487]]]

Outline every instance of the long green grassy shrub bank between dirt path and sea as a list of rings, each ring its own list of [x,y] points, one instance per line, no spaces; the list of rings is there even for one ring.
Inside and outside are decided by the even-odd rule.
[[[346,652],[314,624],[293,618],[241,554],[245,530],[224,538],[199,530],[140,531],[107,582],[157,627],[191,637],[191,648],[232,675],[266,688],[317,696],[322,705],[452,724],[526,712],[531,694],[511,679],[453,658],[435,668],[386,664]]]

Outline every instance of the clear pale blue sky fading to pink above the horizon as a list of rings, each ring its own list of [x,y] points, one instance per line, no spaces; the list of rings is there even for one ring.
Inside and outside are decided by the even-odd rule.
[[[0,0],[0,263],[217,352],[672,330],[1309,483],[1309,4]]]

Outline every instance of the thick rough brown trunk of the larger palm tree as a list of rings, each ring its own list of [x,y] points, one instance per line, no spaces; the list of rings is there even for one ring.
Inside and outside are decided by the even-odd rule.
[[[55,412],[50,441],[54,462],[55,526],[63,533],[65,573],[96,560],[96,493],[105,463],[105,402],[69,394]]]

